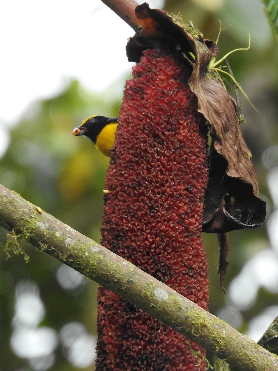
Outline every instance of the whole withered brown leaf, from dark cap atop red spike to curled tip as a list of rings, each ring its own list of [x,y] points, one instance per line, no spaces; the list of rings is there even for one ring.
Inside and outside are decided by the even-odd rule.
[[[149,9],[147,3],[136,7],[135,12],[142,28],[128,42],[129,60],[139,62],[142,51],[152,47],[178,53],[185,63],[192,64],[189,86],[198,98],[198,110],[208,121],[212,138],[203,231],[225,233],[261,226],[266,204],[259,198],[257,174],[239,128],[234,99],[220,76],[208,69],[218,53],[217,45],[204,40],[191,25],[181,25],[166,12]]]

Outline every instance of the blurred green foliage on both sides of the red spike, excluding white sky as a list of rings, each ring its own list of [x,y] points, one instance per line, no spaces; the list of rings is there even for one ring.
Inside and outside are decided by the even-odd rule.
[[[267,188],[267,169],[263,167],[261,158],[267,147],[278,143],[278,52],[265,20],[263,5],[254,0],[168,0],[165,9],[169,13],[180,13],[185,21],[191,20],[208,39],[216,39],[220,19],[219,58],[232,49],[245,47],[248,33],[251,34],[251,49],[234,53],[229,62],[236,80],[260,111],[258,115],[242,98],[242,112],[246,119],[242,131],[253,153],[262,197],[267,200],[268,213],[271,213],[273,204]],[[125,50],[120,52],[125,53]],[[121,84],[123,89],[125,81]],[[92,142],[83,137],[76,138],[71,133],[87,116],[117,116],[120,100],[120,95],[112,97],[107,92],[96,95],[72,81],[59,96],[36,102],[10,129],[9,147],[0,160],[0,183],[99,242],[102,191],[109,159],[97,152]],[[1,229],[2,245],[6,233]],[[216,236],[203,234],[203,238],[210,268],[210,311],[218,313],[220,308],[230,304],[229,282],[252,256],[268,246],[268,237],[265,226],[230,233],[230,264],[224,282],[228,293],[225,296],[216,274]],[[63,288],[57,280],[61,263],[25,243],[23,246],[30,257],[27,264],[22,256],[6,260],[3,249],[0,250],[0,359],[3,370],[36,369],[26,359],[14,354],[10,347],[15,328],[15,289],[22,280],[36,282],[39,288],[45,308],[39,326],[49,326],[59,332],[62,326],[75,321],[83,323],[88,333],[96,334],[96,284],[85,279],[77,288]],[[246,331],[250,319],[277,301],[277,293],[261,289],[253,305],[241,311],[242,321],[238,329]],[[65,356],[60,343],[55,355],[51,370],[79,369]],[[84,370],[93,370],[93,365]]]

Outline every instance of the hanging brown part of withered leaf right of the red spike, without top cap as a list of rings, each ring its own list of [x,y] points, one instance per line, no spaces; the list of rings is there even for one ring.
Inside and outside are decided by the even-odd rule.
[[[208,120],[212,137],[203,230],[228,232],[261,226],[265,202],[259,198],[257,174],[239,128],[234,100],[221,78],[208,70],[209,48],[198,41],[195,45],[189,86],[198,97],[199,112]]]

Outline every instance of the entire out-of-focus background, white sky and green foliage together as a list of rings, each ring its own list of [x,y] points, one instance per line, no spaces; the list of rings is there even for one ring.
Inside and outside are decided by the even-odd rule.
[[[142,3],[143,1],[139,1]],[[6,2],[9,3],[9,2]],[[232,49],[242,98],[242,131],[253,154],[267,220],[230,233],[226,295],[218,246],[203,234],[209,259],[210,311],[258,341],[278,315],[278,51],[259,0],[153,0],[179,14],[219,58]],[[99,242],[109,160],[72,130],[87,116],[117,116],[132,63],[133,30],[100,0],[1,4],[0,183]],[[229,84],[229,81],[227,81]],[[7,232],[0,229],[4,248]],[[0,370],[94,370],[96,283],[23,243],[29,256],[0,249]]]

